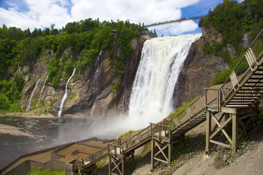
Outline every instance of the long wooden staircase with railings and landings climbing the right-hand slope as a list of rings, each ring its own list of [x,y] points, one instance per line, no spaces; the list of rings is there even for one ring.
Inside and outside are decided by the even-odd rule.
[[[206,121],[209,116],[211,117],[211,115],[212,118],[215,118],[215,114],[223,112],[226,108],[232,109],[233,107],[242,108],[255,106],[255,104],[257,104],[257,102],[259,102],[259,100],[263,97],[262,51],[263,29],[221,88],[205,89],[205,94],[192,102],[173,119],[164,120],[163,125],[150,123],[150,126],[146,127],[132,138],[128,140],[119,138],[117,141],[113,142],[113,144],[108,144],[108,146],[87,157],[85,160],[90,163],[86,164],[84,168],[89,167],[107,156],[119,156],[124,158],[124,155],[132,153],[134,150],[151,141],[153,138],[160,140],[160,142],[165,141],[170,143],[171,139],[184,135],[192,128]],[[226,122],[229,122],[232,118],[234,119],[235,115],[233,115],[234,117],[231,116]],[[219,121],[214,119],[217,120],[216,123],[218,126],[220,126],[219,123],[222,120],[222,117],[223,115],[220,117]],[[216,128],[214,128],[213,131],[215,131],[215,129]],[[222,127],[220,129],[223,130]],[[230,141],[232,142],[232,140]],[[215,141],[211,142],[219,143]],[[222,145],[225,146],[225,144]],[[160,150],[159,152],[162,151]],[[153,159],[154,158],[152,157],[152,160]],[[167,161],[168,164],[169,161]],[[115,165],[118,169],[117,164]],[[119,170],[119,172],[120,174],[124,174],[124,171],[121,172]],[[112,173],[109,171],[109,174]]]

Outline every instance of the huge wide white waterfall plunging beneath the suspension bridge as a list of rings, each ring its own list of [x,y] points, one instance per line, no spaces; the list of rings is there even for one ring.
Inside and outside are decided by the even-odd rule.
[[[191,44],[202,34],[146,40],[130,97],[129,116],[158,122],[173,108],[173,93]],[[148,124],[148,123],[147,123]]]

